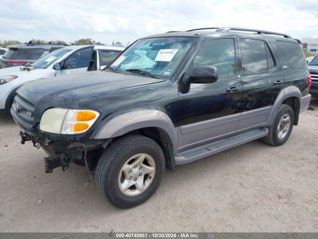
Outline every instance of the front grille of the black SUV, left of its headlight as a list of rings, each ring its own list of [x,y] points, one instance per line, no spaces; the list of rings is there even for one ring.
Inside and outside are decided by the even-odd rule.
[[[10,109],[12,117],[25,129],[34,130],[34,105],[16,94]]]

